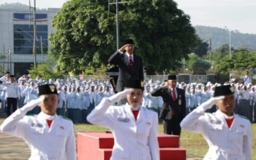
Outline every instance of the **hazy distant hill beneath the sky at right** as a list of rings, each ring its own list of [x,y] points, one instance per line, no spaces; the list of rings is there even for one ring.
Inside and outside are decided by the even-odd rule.
[[[194,26],[197,35],[204,41],[211,39],[211,47],[215,49],[222,44],[229,44],[230,35],[225,28],[208,27],[203,25]],[[240,33],[231,31],[231,47],[245,47],[250,50],[256,49],[256,34]]]

